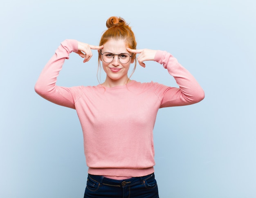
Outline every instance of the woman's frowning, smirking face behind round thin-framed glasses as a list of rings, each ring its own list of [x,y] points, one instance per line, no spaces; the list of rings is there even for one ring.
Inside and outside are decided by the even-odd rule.
[[[103,49],[101,49],[102,54],[105,52],[109,52],[112,54],[128,53],[131,56],[131,53],[128,52],[126,49],[128,46],[124,40],[110,39],[103,46],[104,46]],[[111,55],[107,54],[107,56],[111,56]],[[120,59],[124,58],[124,55],[120,55],[120,56],[122,56],[120,57]],[[130,64],[134,62],[134,59],[130,57],[130,60],[127,63],[123,64],[121,62],[124,62],[124,61],[121,60],[120,62],[119,56],[115,55],[112,62],[107,63],[104,61],[103,55],[101,55],[100,60],[102,61],[102,67],[107,74],[106,82],[115,82],[115,83],[119,82],[120,84],[125,84],[127,82],[128,70],[129,70]],[[111,57],[109,60],[111,60]]]

